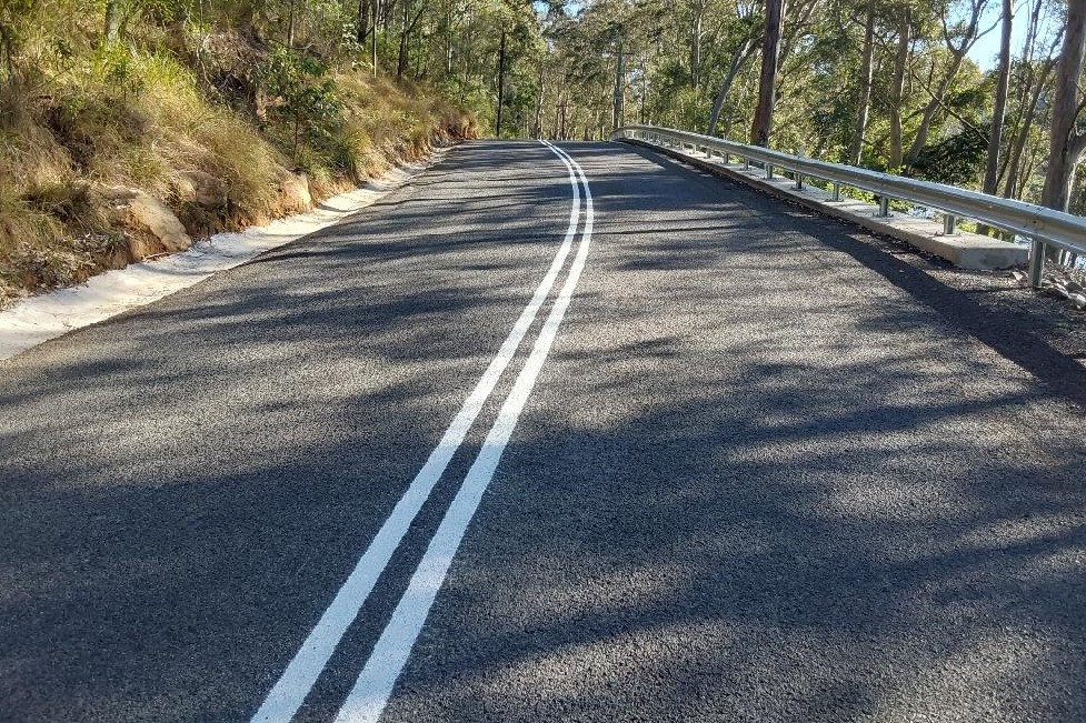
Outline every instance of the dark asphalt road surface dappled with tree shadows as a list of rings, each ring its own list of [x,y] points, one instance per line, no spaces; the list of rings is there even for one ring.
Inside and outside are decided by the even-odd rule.
[[[1082,365],[847,225],[562,148],[590,234],[555,152],[469,143],[0,362],[0,720],[265,710],[564,241],[293,720],[1086,720]]]

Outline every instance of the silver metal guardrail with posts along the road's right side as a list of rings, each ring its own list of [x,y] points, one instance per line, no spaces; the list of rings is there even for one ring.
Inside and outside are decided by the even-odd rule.
[[[778,169],[795,174],[797,188],[803,188],[805,177],[828,181],[834,184],[835,201],[840,200],[843,187],[870,191],[880,197],[879,215],[884,217],[889,215],[890,199],[923,205],[943,213],[943,228],[948,235],[955,233],[957,220],[966,218],[1028,237],[1033,241],[1029,252],[1029,283],[1034,287],[1040,285],[1047,244],[1086,255],[1086,218],[1033,203],[943,183],[917,181],[893,173],[817,161],[760,145],[747,145],[670,128],[626,125],[611,133],[611,140],[624,138],[664,147],[693,145],[696,151],[701,150],[708,157],[714,152],[719,153],[724,157],[725,163],[731,155],[736,155],[743,159],[748,168],[751,161],[763,164],[766,169],[766,178],[773,178],[774,171]]]

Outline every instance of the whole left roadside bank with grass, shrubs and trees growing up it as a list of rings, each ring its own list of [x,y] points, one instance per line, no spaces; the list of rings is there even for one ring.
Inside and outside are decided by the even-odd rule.
[[[0,0],[0,305],[305,210],[477,134],[467,104],[375,73],[352,16],[320,10]]]

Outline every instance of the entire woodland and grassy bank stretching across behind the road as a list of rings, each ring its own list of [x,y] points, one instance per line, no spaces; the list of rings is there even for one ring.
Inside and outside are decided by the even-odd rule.
[[[1084,213],[1084,46],[1086,0],[0,0],[0,287],[111,263],[111,184],[213,231],[283,169],[630,123]]]

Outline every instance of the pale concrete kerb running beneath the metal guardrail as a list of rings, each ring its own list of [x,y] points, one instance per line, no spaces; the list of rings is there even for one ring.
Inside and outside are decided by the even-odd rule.
[[[797,184],[794,180],[780,175],[765,178],[761,170],[754,167],[746,168],[744,163],[725,165],[724,159],[720,158],[699,158],[683,149],[654,145],[637,139],[621,139],[621,142],[647,148],[708,171],[714,175],[746,183],[776,198],[793,201],[811,211],[831,215],[869,231],[905,241],[917,249],[946,259],[959,269],[1009,269],[1025,264],[1029,257],[1028,247],[997,241],[967,231],[946,235],[943,223],[930,219],[893,214],[879,217],[878,205],[855,199],[835,201],[833,193],[808,183],[804,183],[803,188],[796,188]]]

